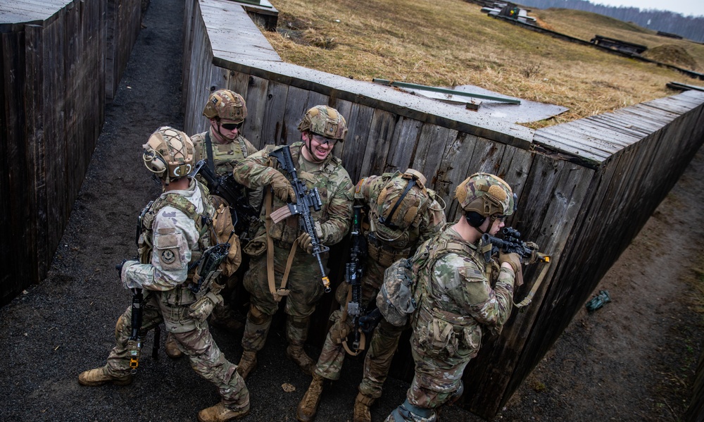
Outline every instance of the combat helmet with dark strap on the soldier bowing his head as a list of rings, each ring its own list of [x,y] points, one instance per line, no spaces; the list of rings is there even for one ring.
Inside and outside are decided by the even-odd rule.
[[[409,168],[396,173],[379,191],[377,215],[379,223],[391,230],[406,230],[429,205],[425,176]]]

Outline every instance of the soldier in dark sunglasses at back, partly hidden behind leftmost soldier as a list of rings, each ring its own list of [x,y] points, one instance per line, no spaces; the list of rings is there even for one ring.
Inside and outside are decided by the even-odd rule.
[[[237,163],[257,151],[256,147],[242,135],[242,125],[247,117],[244,98],[228,89],[218,89],[208,97],[208,102],[203,108],[203,116],[208,118],[210,127],[206,132],[191,136],[195,149],[194,161],[207,159],[208,166],[211,166],[215,175],[229,175]],[[262,190],[248,192],[252,206],[259,206],[261,192]],[[215,199],[225,206],[230,205],[225,199],[220,197]],[[241,328],[241,323],[234,318],[229,304],[236,285],[237,275],[232,275],[222,290],[224,302],[215,306],[213,314],[210,315],[211,324],[222,325],[230,331]],[[172,335],[166,338],[165,349],[166,354],[174,359],[182,356]]]

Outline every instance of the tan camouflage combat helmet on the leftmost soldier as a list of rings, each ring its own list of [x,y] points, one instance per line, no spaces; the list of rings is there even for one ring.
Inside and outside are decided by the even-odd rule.
[[[167,185],[193,170],[193,142],[180,130],[162,126],[142,147],[144,165]]]

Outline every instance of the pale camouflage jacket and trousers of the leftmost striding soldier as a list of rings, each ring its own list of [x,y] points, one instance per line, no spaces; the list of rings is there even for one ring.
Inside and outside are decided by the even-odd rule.
[[[168,193],[181,194],[199,212],[203,212],[204,201],[208,201],[201,196],[194,180],[191,180],[188,190]],[[154,218],[152,243],[151,263],[134,263],[122,270],[123,278],[129,278],[132,285],[139,285],[145,290],[140,333],[146,335],[163,321],[182,352],[189,356],[194,371],[218,387],[226,406],[230,409],[249,407],[249,390],[237,373],[237,366],[227,361],[220,352],[207,323],[189,316],[189,304],[195,302],[195,297],[184,287],[184,282],[187,281],[191,254],[201,249],[196,224],[182,211],[165,206]],[[125,376],[130,371],[127,340],[132,332],[131,321],[130,306],[115,325],[115,347],[106,364],[107,373],[111,376]]]

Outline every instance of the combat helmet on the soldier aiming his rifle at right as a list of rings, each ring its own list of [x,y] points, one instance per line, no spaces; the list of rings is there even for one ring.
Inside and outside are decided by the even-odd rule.
[[[455,198],[467,222],[479,227],[486,218],[510,216],[516,210],[517,197],[503,179],[489,173],[474,173],[455,190]]]

